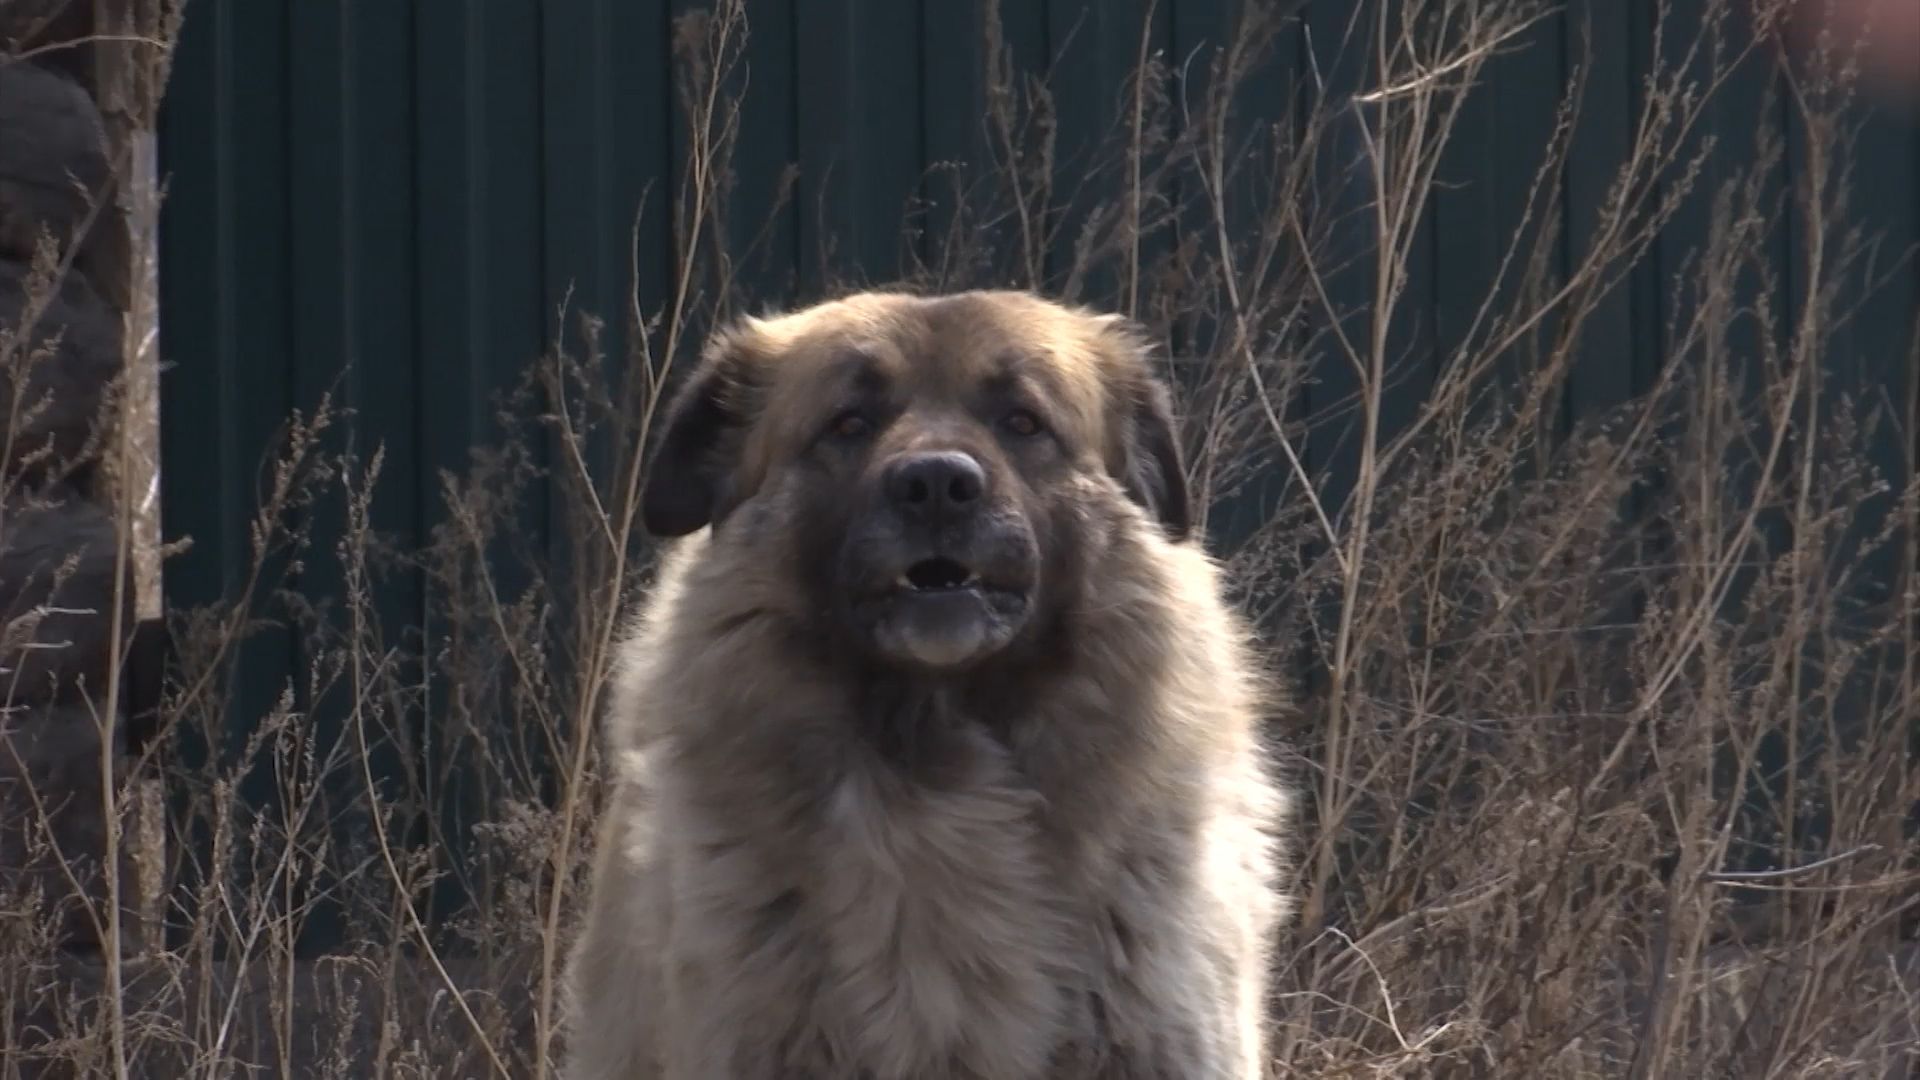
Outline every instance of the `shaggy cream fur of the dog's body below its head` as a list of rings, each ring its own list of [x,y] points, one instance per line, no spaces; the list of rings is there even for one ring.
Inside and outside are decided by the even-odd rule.
[[[778,482],[670,546],[607,709],[568,1080],[1261,1076],[1288,799],[1217,567],[1085,477],[1073,657],[929,692],[925,773],[814,669]]]

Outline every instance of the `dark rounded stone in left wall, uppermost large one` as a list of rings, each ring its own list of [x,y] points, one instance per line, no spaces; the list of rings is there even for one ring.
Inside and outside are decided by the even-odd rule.
[[[42,227],[63,246],[84,227],[75,265],[113,277],[125,219],[111,179],[106,127],[86,90],[36,63],[0,61],[0,256],[31,261]],[[90,225],[88,198],[109,200]]]

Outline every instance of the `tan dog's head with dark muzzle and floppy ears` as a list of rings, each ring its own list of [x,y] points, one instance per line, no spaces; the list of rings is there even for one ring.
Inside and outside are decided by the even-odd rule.
[[[1123,502],[1187,538],[1133,325],[1023,292],[868,292],[716,334],[641,511],[655,536],[710,525],[716,548],[780,559],[810,628],[868,661],[943,673],[1096,588],[1089,532]]]

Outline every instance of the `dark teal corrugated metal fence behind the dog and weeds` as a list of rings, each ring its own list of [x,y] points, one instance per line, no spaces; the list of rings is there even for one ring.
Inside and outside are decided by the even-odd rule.
[[[349,438],[386,448],[374,525],[420,544],[440,515],[438,473],[461,469],[493,438],[492,394],[511,386],[561,332],[557,311],[605,315],[622,354],[632,275],[643,309],[660,304],[674,259],[662,209],[685,158],[674,102],[672,17],[684,0],[194,0],[188,6],[161,131],[163,211],[165,532],[194,548],[167,567],[175,603],[230,592],[248,565],[248,519],[261,455],[292,407],[336,388],[359,413]],[[1054,65],[1062,183],[1075,154],[1119,119],[1121,79],[1142,48],[1175,67],[1219,40],[1229,0],[1033,0],[1002,6],[1016,65]],[[1148,8],[1152,19],[1146,19]],[[1551,208],[1569,229],[1559,259],[1578,258],[1582,223],[1596,217],[1613,163],[1640,108],[1640,73],[1651,50],[1645,4],[1576,0],[1501,58],[1467,104],[1442,163],[1446,188],[1421,233],[1409,282],[1417,317],[1398,329],[1409,371],[1386,402],[1388,423],[1413,415],[1423,388],[1473,317],[1519,223],[1519,192],[1532,179],[1561,86],[1592,52],[1596,69],[1572,142],[1565,200]],[[1275,56],[1256,73],[1236,123],[1292,123],[1294,86],[1317,71],[1325,92],[1365,81],[1336,61],[1346,0],[1304,6]],[[885,281],[902,256],[935,258],[922,238],[902,248],[899,223],[914,196],[931,200],[929,233],[950,219],[945,161],[977,163],[987,140],[979,6],[973,0],[753,0],[747,42],[753,90],[739,117],[732,242],[762,246],[741,263],[747,294],[783,304],[829,279]],[[1204,63],[1187,69],[1190,86]],[[1713,175],[1738,161],[1743,123],[1761,108],[1764,75],[1741,73],[1715,106],[1707,131],[1736,146],[1709,160]],[[1788,113],[1780,110],[1780,125]],[[1354,129],[1334,135],[1357,161]],[[1885,234],[1887,259],[1920,242],[1920,125],[1876,117],[1859,138],[1855,173],[1862,223]],[[799,167],[791,198],[772,215],[780,177]],[[1788,160],[1780,190],[1795,181]],[[1359,208],[1369,192],[1329,171],[1329,198]],[[649,213],[634,233],[641,198]],[[1068,208],[1068,231],[1087,192]],[[1236,184],[1233,200],[1258,209]],[[772,215],[772,225],[762,221]],[[1356,227],[1357,229],[1357,227]],[[1356,233],[1357,236],[1357,233]],[[1644,267],[1601,307],[1572,379],[1567,421],[1647,386],[1670,311],[1680,254],[1705,236],[1705,208],[1676,219]],[[1786,258],[1788,236],[1778,238]],[[829,250],[826,250],[829,248]],[[1444,252],[1444,256],[1442,256]],[[1329,284],[1336,302],[1369,292],[1356,263]],[[1887,271],[1887,259],[1878,269]],[[1062,250],[1048,258],[1060,271]],[[1089,282],[1110,296],[1116,282]],[[1862,284],[1864,296],[1864,284]],[[1830,363],[1864,392],[1912,396],[1907,352],[1920,309],[1920,273],[1907,261],[1866,298]],[[1356,315],[1361,317],[1361,315]],[[1206,327],[1185,327],[1204,336]],[[1327,359],[1319,382],[1292,402],[1315,415],[1354,390]],[[1356,450],[1350,425],[1315,427],[1309,467],[1329,479],[1332,502],[1348,490]],[[1876,446],[1884,461],[1901,448]],[[1261,492],[1227,507],[1223,528],[1261,513]],[[321,542],[340,536],[338,507],[317,507]],[[557,536],[532,511],[522,540]],[[1891,580],[1893,567],[1882,567]],[[511,584],[511,582],[509,582]],[[340,588],[313,559],[300,588],[326,603]],[[378,598],[394,634],[417,632],[424,582]],[[232,740],[248,717],[273,707],[309,661],[301,634],[255,638],[238,671]],[[315,723],[338,703],[305,701]],[[430,730],[426,717],[420,730]],[[380,769],[394,769],[382,761]],[[273,784],[255,776],[250,798]],[[455,822],[447,822],[449,826]]]

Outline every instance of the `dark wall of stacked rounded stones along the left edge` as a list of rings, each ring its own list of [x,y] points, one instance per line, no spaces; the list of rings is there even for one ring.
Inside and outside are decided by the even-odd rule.
[[[73,884],[100,896],[119,824],[108,684],[136,615],[113,509],[134,261],[94,44],[109,13],[0,0],[0,905],[38,892],[69,945],[100,944]]]

